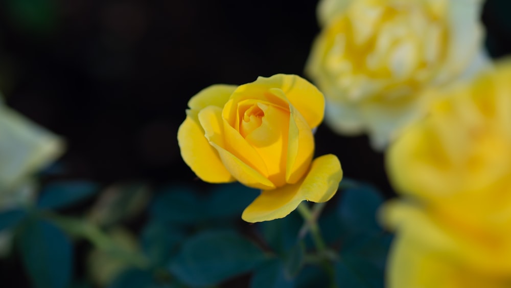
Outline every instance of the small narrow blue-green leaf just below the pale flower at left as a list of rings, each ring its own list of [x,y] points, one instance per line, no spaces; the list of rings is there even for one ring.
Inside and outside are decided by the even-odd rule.
[[[41,209],[60,209],[76,204],[95,194],[99,185],[88,181],[61,181],[46,185],[37,206]]]

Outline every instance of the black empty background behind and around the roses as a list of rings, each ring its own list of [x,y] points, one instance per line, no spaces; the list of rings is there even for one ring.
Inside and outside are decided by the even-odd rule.
[[[454,0],[459,1],[459,0]],[[67,178],[197,183],[176,134],[187,102],[215,83],[298,74],[318,33],[317,1],[4,0],[0,87],[7,103],[67,141]],[[492,56],[511,51],[507,0],[482,19]],[[316,154],[391,195],[365,136],[324,124]]]

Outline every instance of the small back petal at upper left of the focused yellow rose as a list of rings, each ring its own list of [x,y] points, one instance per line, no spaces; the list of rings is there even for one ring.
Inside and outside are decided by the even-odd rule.
[[[236,85],[216,84],[204,88],[188,101],[192,110],[199,111],[207,106],[223,107],[236,90]]]

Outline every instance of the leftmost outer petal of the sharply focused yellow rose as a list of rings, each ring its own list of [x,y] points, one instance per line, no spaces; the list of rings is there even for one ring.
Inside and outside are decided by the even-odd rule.
[[[235,181],[220,160],[218,152],[204,137],[204,131],[198,119],[187,116],[187,119],[179,126],[177,141],[184,162],[200,179],[211,183]]]

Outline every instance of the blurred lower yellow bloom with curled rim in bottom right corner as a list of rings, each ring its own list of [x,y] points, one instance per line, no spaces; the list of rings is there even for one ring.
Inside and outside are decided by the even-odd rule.
[[[508,238],[470,231],[463,224],[449,223],[436,216],[424,206],[389,203],[383,212],[387,225],[398,231],[387,260],[386,287],[511,287],[509,266],[500,266],[509,260],[505,258],[508,254],[500,253],[501,245],[508,245],[509,242],[504,242]],[[460,230],[466,232],[459,233]],[[481,259],[494,262],[473,262],[471,254],[485,254]]]

